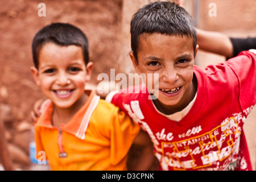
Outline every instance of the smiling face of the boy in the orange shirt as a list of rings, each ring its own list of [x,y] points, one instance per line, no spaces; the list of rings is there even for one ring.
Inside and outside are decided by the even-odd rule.
[[[38,69],[32,67],[31,72],[56,107],[69,108],[84,104],[85,84],[92,67],[92,62],[85,65],[81,47],[46,43],[39,52]]]

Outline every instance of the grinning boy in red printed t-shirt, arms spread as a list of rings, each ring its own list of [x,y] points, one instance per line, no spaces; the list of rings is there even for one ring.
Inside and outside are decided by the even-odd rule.
[[[194,65],[198,48],[182,7],[144,6],[131,20],[130,57],[147,85],[106,100],[147,131],[162,170],[251,170],[242,127],[256,102],[255,52],[201,69]]]

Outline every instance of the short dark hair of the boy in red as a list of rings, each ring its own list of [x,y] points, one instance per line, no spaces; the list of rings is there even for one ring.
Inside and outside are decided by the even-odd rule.
[[[187,36],[193,39],[196,49],[197,38],[193,19],[189,13],[172,2],[150,3],[137,11],[131,20],[131,49],[138,60],[139,36],[143,33],[160,33]]]

